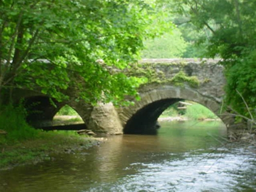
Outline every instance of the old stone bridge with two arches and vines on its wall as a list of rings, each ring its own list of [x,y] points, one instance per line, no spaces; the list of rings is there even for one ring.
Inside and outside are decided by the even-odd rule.
[[[183,99],[197,102],[212,110],[227,128],[233,124],[232,116],[222,111],[222,97],[226,84],[223,68],[218,60],[199,59],[144,59],[140,65],[126,71],[135,76],[148,78],[138,92],[140,101],[127,97],[134,104],[114,107],[111,103],[93,107],[84,101],[76,102],[70,93],[68,102],[55,102],[32,91],[19,91],[27,109],[28,121],[49,126],[55,113],[68,104],[82,117],[88,129],[110,134],[155,132],[158,117],[169,105]]]

